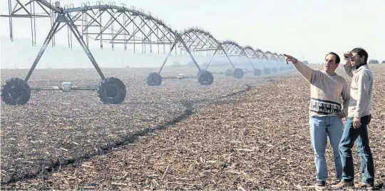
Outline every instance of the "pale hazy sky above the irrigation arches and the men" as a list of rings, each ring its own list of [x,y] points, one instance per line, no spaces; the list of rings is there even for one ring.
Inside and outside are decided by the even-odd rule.
[[[1,0],[1,14],[8,1]],[[16,2],[16,1],[14,1]],[[52,1],[53,2],[53,1]],[[61,0],[61,6],[85,1]],[[91,5],[96,1],[89,1]],[[231,39],[240,45],[304,55],[309,62],[322,62],[324,55],[363,47],[369,59],[385,60],[384,0],[119,0],[116,5],[135,6],[162,18],[178,31],[199,26],[218,40]],[[105,1],[106,3],[106,1]],[[15,4],[15,3],[14,3]],[[381,13],[382,11],[382,13]],[[15,18],[20,20],[21,18]],[[30,45],[30,20],[14,23],[14,38]],[[44,21],[43,21],[44,20]],[[49,19],[36,20],[37,44],[49,30]],[[20,23],[20,22],[19,22]],[[1,18],[1,36],[9,36],[8,18]],[[10,41],[10,40],[8,40]],[[39,45],[38,45],[39,46]],[[4,51],[4,50],[1,50]],[[1,54],[3,56],[4,53]]]

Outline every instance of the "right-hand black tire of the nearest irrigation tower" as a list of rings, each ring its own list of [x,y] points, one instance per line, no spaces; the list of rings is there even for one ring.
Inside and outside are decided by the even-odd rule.
[[[107,77],[98,86],[98,97],[103,104],[121,104],[126,93],[125,84],[116,77]]]

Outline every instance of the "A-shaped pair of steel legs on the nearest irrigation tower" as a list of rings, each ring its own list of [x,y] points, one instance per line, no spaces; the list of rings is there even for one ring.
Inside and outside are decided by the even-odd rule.
[[[27,82],[29,80],[29,77],[31,77],[32,72],[34,72],[36,65],[38,64],[39,60],[41,59],[41,56],[45,52],[48,44],[51,42],[53,35],[57,32],[58,27],[60,26],[61,23],[66,23],[67,26],[71,29],[73,35],[78,39],[78,42],[80,43],[81,47],[83,48],[84,52],[88,56],[88,58],[91,60],[93,66],[95,67],[96,71],[98,74],[101,76],[101,79],[104,80],[106,77],[104,77],[103,72],[101,71],[101,68],[98,66],[98,63],[96,62],[95,58],[93,57],[91,50],[89,50],[88,46],[86,45],[86,42],[81,38],[81,33],[78,31],[78,28],[75,26],[73,23],[73,20],[71,16],[66,13],[66,14],[58,14],[56,17],[56,20],[53,23],[53,26],[51,30],[49,31],[46,40],[44,40],[44,43],[34,60],[34,63],[31,66],[31,69],[29,70],[28,74],[26,75],[25,81]]]

